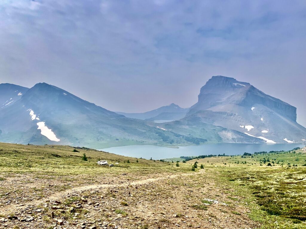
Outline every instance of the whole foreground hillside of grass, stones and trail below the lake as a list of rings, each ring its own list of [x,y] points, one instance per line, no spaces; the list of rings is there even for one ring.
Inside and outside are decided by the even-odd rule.
[[[84,153],[88,161],[82,160]],[[97,165],[100,159],[114,167]],[[0,224],[14,229],[306,228],[305,160],[300,149],[176,166],[172,159],[0,143]]]

